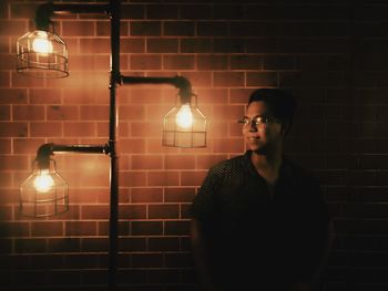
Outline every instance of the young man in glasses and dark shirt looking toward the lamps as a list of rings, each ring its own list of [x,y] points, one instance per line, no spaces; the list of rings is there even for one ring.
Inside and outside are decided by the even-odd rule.
[[[247,150],[208,172],[192,207],[192,247],[208,291],[312,290],[331,241],[319,185],[283,155],[296,102],[252,93],[241,118]]]

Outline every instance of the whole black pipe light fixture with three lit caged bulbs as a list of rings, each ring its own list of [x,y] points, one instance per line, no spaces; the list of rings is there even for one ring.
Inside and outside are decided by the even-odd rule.
[[[33,77],[69,75],[68,49],[55,35],[51,17],[67,13],[104,13],[111,24],[109,141],[105,145],[44,144],[37,153],[33,173],[21,185],[20,214],[47,217],[69,209],[68,184],[57,173],[51,156],[58,153],[105,154],[110,157],[109,290],[116,289],[119,166],[116,155],[116,86],[170,84],[178,90],[178,102],[164,117],[164,146],[205,147],[206,118],[196,106],[196,95],[184,76],[125,76],[120,73],[120,0],[109,3],[44,3],[35,13],[37,30],[18,39],[18,72]],[[51,29],[51,31],[49,31]]]

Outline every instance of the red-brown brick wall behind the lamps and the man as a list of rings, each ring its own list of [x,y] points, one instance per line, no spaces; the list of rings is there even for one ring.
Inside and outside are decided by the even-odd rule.
[[[109,21],[55,19],[71,75],[27,79],[16,72],[16,40],[33,28],[38,3],[0,3],[0,290],[103,290],[106,157],[57,155],[70,211],[18,214],[39,145],[108,139]],[[122,73],[188,77],[210,124],[206,148],[164,148],[176,90],[119,89],[123,289],[196,288],[187,207],[211,165],[244,152],[236,119],[263,86],[297,95],[286,152],[318,177],[335,218],[321,290],[388,289],[387,12],[382,0],[123,1]]]

